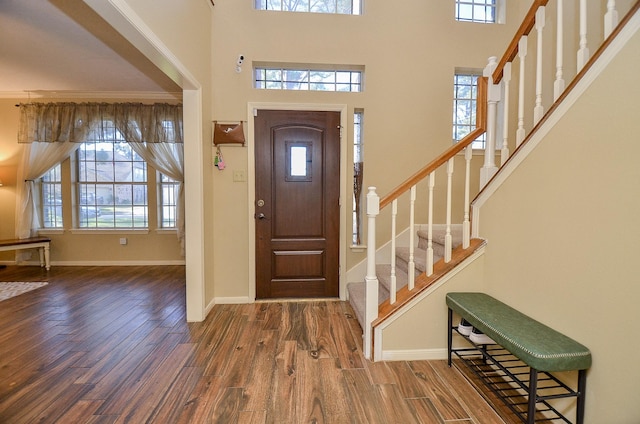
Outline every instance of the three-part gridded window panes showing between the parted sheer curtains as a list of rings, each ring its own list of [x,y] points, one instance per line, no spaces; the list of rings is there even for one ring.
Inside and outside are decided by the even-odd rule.
[[[148,228],[148,170],[145,161],[124,141],[108,121],[101,128],[100,140],[91,133],[76,151],[73,163],[75,192],[74,227],[96,229]],[[178,188],[180,183],[157,173],[158,227],[177,226]],[[70,181],[67,181],[70,184]],[[60,164],[40,181],[42,226],[63,228]]]

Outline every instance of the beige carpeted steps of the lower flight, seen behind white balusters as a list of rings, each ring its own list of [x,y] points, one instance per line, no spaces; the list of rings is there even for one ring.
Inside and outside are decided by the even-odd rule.
[[[425,229],[417,231],[418,244],[414,249],[415,277],[427,273],[427,248],[428,248],[428,232]],[[456,248],[462,244],[462,225],[453,225],[451,227],[452,246]],[[433,232],[432,248],[434,262],[444,260],[445,256],[445,237],[446,228],[439,226]],[[409,263],[411,262],[411,252],[408,246],[398,247],[396,249],[396,268],[394,270],[396,277],[396,291],[406,287],[409,282]],[[391,264],[377,264],[376,275],[378,276],[378,304],[382,305],[390,298],[390,288],[392,279]],[[360,326],[364,328],[365,313],[365,282],[349,283],[347,285],[349,294],[349,303],[356,313]]]

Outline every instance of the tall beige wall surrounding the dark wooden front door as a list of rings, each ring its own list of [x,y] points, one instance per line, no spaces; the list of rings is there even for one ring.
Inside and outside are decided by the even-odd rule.
[[[371,1],[363,16],[265,12],[254,10],[251,2],[216,2],[212,119],[252,119],[250,102],[346,104],[343,209],[350,214],[354,108],[364,109],[364,186],[375,185],[384,194],[451,145],[454,69],[483,68],[489,56],[501,54],[526,9],[509,3],[507,25],[482,25],[455,22],[452,2],[411,0],[399,7]],[[245,63],[238,74],[240,54]],[[352,94],[257,90],[252,88],[254,61],[362,65],[365,88]],[[254,160],[247,150],[223,148],[228,168],[213,175],[216,296],[248,294],[253,235],[247,208],[253,208],[253,199],[247,196],[253,181],[232,181],[233,170],[247,170]],[[349,244],[350,239],[343,248]],[[348,252],[344,265],[349,269],[362,259]]]

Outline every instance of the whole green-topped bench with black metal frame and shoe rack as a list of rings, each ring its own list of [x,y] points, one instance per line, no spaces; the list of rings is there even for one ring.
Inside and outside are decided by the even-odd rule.
[[[571,424],[549,401],[576,398],[576,424],[584,421],[589,349],[556,330],[484,293],[448,293],[448,362],[452,354],[465,363],[524,423],[561,420]],[[477,345],[458,332],[453,313],[496,344]],[[453,348],[453,334],[471,347]],[[578,372],[577,390],[552,373]],[[519,402],[522,397],[526,402]]]

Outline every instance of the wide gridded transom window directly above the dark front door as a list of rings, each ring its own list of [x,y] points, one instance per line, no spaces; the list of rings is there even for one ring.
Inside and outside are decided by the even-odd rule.
[[[362,91],[362,71],[305,68],[254,68],[255,88],[303,91]]]

